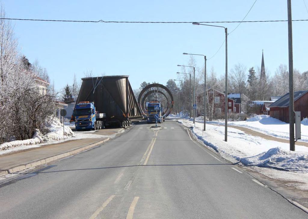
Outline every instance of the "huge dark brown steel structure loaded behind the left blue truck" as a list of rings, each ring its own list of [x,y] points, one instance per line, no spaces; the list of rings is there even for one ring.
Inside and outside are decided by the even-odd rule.
[[[140,107],[126,75],[82,78],[79,102],[94,102],[96,113],[105,113],[104,125],[131,124],[143,119]]]

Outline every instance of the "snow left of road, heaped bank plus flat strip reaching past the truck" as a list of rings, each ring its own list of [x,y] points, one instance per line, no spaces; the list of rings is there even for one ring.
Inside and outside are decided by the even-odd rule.
[[[66,124],[66,122],[65,122]],[[69,124],[69,123],[68,123]],[[75,127],[75,124],[73,124]],[[13,151],[40,147],[47,144],[60,143],[72,139],[82,139],[82,138],[101,138],[101,137],[111,137],[93,134],[94,131],[89,132],[73,132],[71,128],[64,125],[63,134],[63,124],[60,123],[59,119],[55,118],[50,127],[50,132],[46,135],[42,135],[39,130],[36,130],[31,139],[22,141],[10,141],[0,145],[0,155],[5,153],[11,153]]]

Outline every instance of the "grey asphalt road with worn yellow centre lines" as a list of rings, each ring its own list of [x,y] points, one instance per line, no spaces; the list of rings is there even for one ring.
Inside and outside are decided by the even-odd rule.
[[[175,121],[0,185],[0,218],[308,218]]]

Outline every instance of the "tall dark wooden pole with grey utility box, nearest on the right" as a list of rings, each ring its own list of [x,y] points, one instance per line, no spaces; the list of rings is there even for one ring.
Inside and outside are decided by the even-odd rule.
[[[287,0],[287,2],[288,2],[288,43],[289,43],[290,151],[295,151],[295,142],[294,142],[294,88],[293,88],[292,10],[291,10],[291,0]]]

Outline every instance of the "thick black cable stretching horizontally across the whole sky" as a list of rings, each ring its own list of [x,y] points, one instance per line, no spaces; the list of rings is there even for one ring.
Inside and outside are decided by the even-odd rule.
[[[154,23],[154,24],[181,24],[193,23],[187,22],[163,22],[163,21],[73,21],[73,20],[44,20],[44,19],[22,19],[22,18],[0,18],[0,20],[18,20],[18,21],[52,21],[52,22],[89,22],[89,23]],[[288,20],[269,20],[269,21],[202,21],[197,23],[252,23],[252,22],[287,22]],[[308,19],[292,20],[292,21],[308,21]]]

